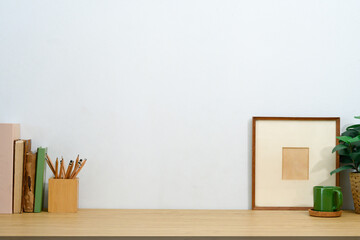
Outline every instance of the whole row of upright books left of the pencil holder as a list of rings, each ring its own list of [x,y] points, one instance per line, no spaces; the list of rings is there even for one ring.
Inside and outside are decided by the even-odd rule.
[[[20,139],[19,124],[0,124],[0,213],[41,212],[45,156]]]

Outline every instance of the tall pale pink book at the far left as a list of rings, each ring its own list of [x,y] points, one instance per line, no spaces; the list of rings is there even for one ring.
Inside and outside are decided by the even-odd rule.
[[[12,213],[14,141],[20,124],[0,123],[0,213]]]

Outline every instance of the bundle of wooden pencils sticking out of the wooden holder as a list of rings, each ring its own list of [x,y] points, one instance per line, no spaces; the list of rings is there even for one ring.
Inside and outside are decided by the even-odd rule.
[[[79,159],[79,155],[77,155],[76,160],[70,160],[68,167],[65,171],[65,163],[64,158],[61,157],[61,160],[59,162],[59,159],[56,158],[55,161],[55,167],[52,163],[49,155],[46,154],[46,162],[49,165],[50,170],[54,174],[55,179],[74,179],[79,174],[81,169],[84,167],[87,159],[85,158],[84,161],[82,159]]]

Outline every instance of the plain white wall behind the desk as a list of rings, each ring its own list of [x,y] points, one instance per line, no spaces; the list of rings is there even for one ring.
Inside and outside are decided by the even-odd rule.
[[[88,159],[80,207],[247,209],[252,116],[355,122],[359,12],[342,0],[1,0],[0,122],[21,123],[33,150]]]

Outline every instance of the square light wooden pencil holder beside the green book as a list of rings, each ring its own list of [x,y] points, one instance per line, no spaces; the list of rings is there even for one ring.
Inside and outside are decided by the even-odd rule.
[[[79,205],[79,179],[49,179],[48,211],[75,213]]]

